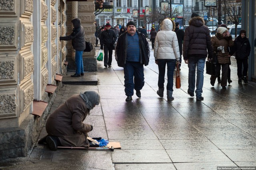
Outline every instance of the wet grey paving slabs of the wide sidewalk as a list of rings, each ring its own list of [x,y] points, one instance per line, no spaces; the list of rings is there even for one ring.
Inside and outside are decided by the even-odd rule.
[[[256,166],[256,83],[238,84],[234,58],[230,66],[233,82],[226,90],[218,83],[212,87],[210,75],[204,74],[204,101],[187,94],[188,66],[183,61],[181,88],[176,89],[174,83],[174,100],[167,101],[166,91],[164,98],[156,94],[158,67],[150,50],[141,98],[134,92],[133,100],[125,101],[123,68],[113,57],[112,67],[105,68],[98,61],[98,85],[64,85],[50,111],[72,95],[98,91],[101,103],[85,120],[94,127],[89,135],[120,142],[122,149],[52,151],[36,144],[26,158],[0,161],[0,169],[216,170],[217,166]],[[44,127],[40,138],[45,135]]]

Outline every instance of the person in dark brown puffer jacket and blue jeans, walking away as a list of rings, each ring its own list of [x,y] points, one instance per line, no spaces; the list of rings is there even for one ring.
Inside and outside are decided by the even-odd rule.
[[[188,64],[188,94],[193,97],[196,87],[196,100],[202,101],[205,59],[212,58],[210,31],[204,25],[204,19],[193,13],[189,26],[185,30],[183,58]],[[197,73],[197,74],[196,74]]]

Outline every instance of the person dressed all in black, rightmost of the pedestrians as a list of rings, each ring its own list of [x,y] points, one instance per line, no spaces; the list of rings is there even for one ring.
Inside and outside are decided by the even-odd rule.
[[[248,83],[246,76],[248,71],[248,56],[251,52],[251,45],[246,37],[246,30],[241,30],[239,36],[235,39],[234,48],[231,49],[230,55],[234,54],[234,52],[236,52],[238,83],[242,84],[242,80],[244,80],[244,83]],[[243,71],[242,65],[244,66]]]

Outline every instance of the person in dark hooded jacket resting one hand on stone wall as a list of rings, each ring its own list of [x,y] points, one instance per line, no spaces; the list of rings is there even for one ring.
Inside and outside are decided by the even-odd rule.
[[[84,75],[84,64],[83,64],[83,52],[85,49],[85,36],[84,28],[81,26],[81,21],[79,18],[75,18],[72,21],[74,26],[72,33],[69,36],[60,37],[60,40],[69,41],[72,40],[72,46],[76,50],[75,63],[76,63],[76,73],[71,75],[71,77],[80,77]]]

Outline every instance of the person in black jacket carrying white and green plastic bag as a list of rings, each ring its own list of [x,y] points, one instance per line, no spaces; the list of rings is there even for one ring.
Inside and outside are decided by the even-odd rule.
[[[114,43],[116,42],[117,36],[114,30],[111,30],[111,26],[109,23],[105,26],[106,30],[102,32],[100,36],[100,49],[103,49],[104,45],[104,66],[111,67],[112,63],[112,53],[114,47]]]

